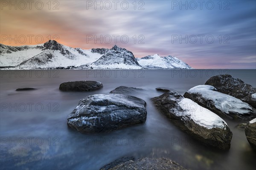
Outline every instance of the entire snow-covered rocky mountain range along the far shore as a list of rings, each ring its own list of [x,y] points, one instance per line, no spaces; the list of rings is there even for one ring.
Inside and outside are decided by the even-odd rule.
[[[75,67],[80,69],[142,69],[191,68],[175,57],[147,56],[136,59],[131,51],[114,45],[113,48],[84,50],[62,45],[55,40],[44,44],[9,46],[0,44],[0,67],[38,69]]]

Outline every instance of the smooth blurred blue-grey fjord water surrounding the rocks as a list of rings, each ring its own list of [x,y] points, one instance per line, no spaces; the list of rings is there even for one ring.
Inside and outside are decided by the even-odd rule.
[[[163,94],[157,87],[184,94],[209,77],[231,74],[256,87],[256,70],[44,70],[0,71],[0,168],[97,170],[123,156],[166,157],[189,169],[253,169],[256,152],[247,142],[239,120],[225,119],[233,132],[231,148],[204,146],[179,130],[151,103]],[[61,92],[62,82],[95,80],[103,88],[93,92]],[[67,127],[67,116],[80,99],[106,94],[116,87],[143,88],[132,94],[147,102],[143,125],[111,133],[82,134]],[[15,91],[16,88],[37,88]]]

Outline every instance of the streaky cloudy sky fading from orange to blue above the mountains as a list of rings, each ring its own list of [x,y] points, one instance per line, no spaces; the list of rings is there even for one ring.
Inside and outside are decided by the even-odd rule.
[[[172,55],[193,68],[256,69],[255,0],[0,0],[0,43],[49,39],[135,57]]]

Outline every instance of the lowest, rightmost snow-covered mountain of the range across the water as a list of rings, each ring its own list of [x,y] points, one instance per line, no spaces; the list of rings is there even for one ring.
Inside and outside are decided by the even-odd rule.
[[[142,58],[137,58],[137,61],[144,68],[183,68],[183,69],[192,69],[186,62],[181,61],[180,59],[172,56],[160,57],[158,54],[153,56],[146,56]]]

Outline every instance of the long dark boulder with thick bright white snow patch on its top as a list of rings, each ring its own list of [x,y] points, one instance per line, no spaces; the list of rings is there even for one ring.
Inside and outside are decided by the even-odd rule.
[[[175,91],[152,98],[157,109],[195,139],[222,150],[230,148],[232,132],[215,113]]]

